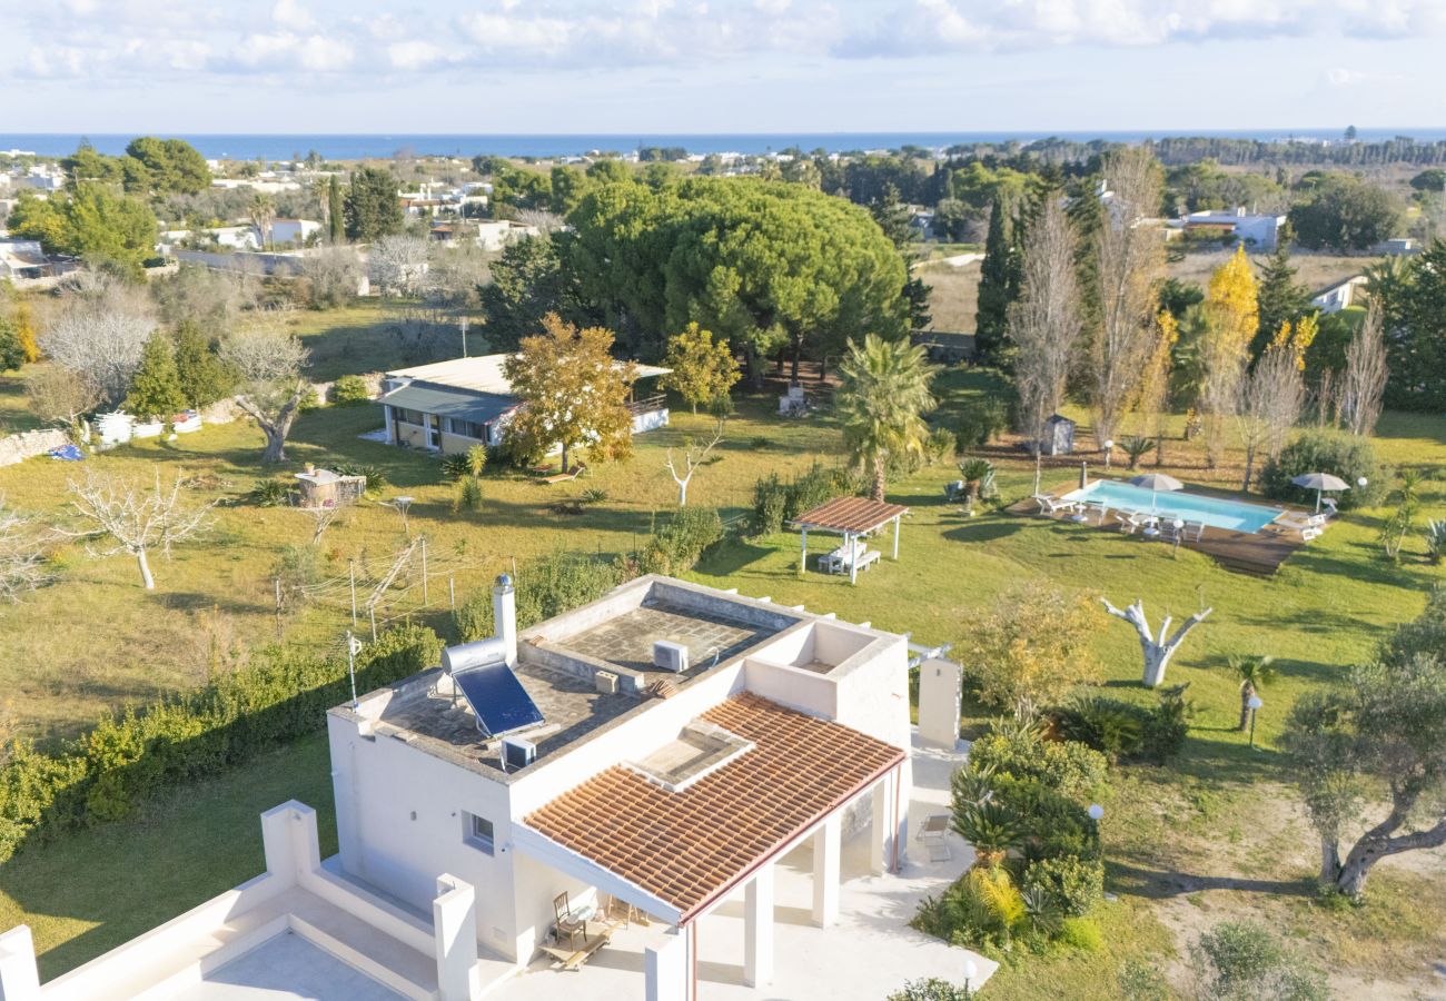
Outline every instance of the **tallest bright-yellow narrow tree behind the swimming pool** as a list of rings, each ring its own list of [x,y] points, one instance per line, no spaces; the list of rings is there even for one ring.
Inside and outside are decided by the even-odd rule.
[[[1206,461],[1210,469],[1225,456],[1225,428],[1241,398],[1241,383],[1251,357],[1251,338],[1259,327],[1255,275],[1245,244],[1210,275],[1205,295],[1206,331],[1202,344],[1200,414],[1205,418]]]

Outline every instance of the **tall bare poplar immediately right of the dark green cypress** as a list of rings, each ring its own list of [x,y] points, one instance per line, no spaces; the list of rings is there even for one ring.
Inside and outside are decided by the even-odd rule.
[[[1009,340],[1018,349],[1015,380],[1030,447],[1044,438],[1044,422],[1064,399],[1074,344],[1080,337],[1074,231],[1057,194],[1045,195],[1024,236],[1019,299],[1009,308]]]

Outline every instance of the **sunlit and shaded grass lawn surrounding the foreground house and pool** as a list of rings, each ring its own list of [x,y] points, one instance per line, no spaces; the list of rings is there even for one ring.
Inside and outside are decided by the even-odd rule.
[[[991,386],[988,373],[947,373],[940,386],[946,412]],[[843,461],[842,437],[826,417],[781,421],[772,417],[774,406],[768,396],[742,401],[714,461],[697,473],[690,492],[694,503],[737,515],[759,476],[801,472],[814,457]],[[428,538],[429,600],[424,605],[414,576],[390,593],[382,618],[421,616],[445,629],[448,579],[464,595],[512,558],[557,550],[633,550],[672,506],[665,448],[704,433],[710,421],[675,411],[674,427],[641,437],[632,459],[599,466],[576,483],[549,487],[516,473],[489,472],[483,511],[461,515],[451,512],[451,486],[441,480],[435,459],[357,438],[377,425],[375,408],[308,414],[288,447],[289,469],[302,461],[364,461],[383,469],[393,483],[382,499],[403,492],[416,498],[411,522],[414,534]],[[1446,469],[1446,419],[1387,415],[1378,447],[1387,461],[1434,472],[1424,511],[1434,516],[1446,509],[1439,479]],[[129,560],[97,561],[80,547],[67,547],[55,586],[23,606],[0,609],[0,684],[13,693],[12,728],[38,736],[74,733],[117,704],[202,680],[218,645],[244,649],[275,638],[272,567],[283,545],[307,541],[311,525],[296,511],[256,508],[243,499],[265,474],[254,464],[259,450],[259,433],[237,422],[87,460],[121,476],[150,476],[158,466],[163,477],[184,472],[195,477],[202,496],[226,503],[215,511],[210,540],[182,547],[171,561],[156,561],[153,593],[139,587]],[[1233,474],[1226,469],[1206,477],[1199,457],[1178,441],[1170,443],[1168,459],[1168,467],[1187,482],[1220,485]],[[0,469],[0,493],[54,516],[64,505],[67,477],[80,472],[46,460]],[[1050,997],[1060,978],[1069,976],[1071,989],[1077,988],[1070,997],[1109,998],[1122,958],[1171,962],[1167,956],[1183,950],[1203,921],[1241,913],[1270,920],[1340,976],[1388,974],[1398,984],[1427,982],[1421,978],[1429,976],[1429,960],[1446,953],[1440,853],[1384,864],[1365,908],[1322,911],[1307,893],[1313,840],[1285,784],[1285,765],[1272,749],[1300,693],[1335,684],[1346,665],[1369,655],[1387,629],[1421,609],[1440,571],[1417,555],[1420,542],[1408,547],[1413,553],[1403,566],[1387,564],[1377,545],[1384,512],[1351,512],[1275,577],[1257,579],[1190,551],[1174,555],[1165,545],[1073,524],[1002,511],[967,518],[943,499],[943,485],[956,477],[950,463],[891,485],[891,499],[912,511],[904,524],[901,558],[884,560],[857,587],[817,573],[800,576],[792,534],[729,540],[690,576],[870,621],[928,644],[959,639],[970,618],[1031,580],[1108,596],[1116,605],[1144,597],[1152,622],[1164,613],[1178,619],[1202,605],[1213,606],[1171,667],[1171,680],[1189,681],[1197,704],[1186,751],[1167,768],[1121,770],[1105,801],[1109,881],[1121,897],[1100,919],[1108,949],[1093,956],[1024,958],[1001,971],[985,997]],[[1067,476],[1056,473],[1054,479]],[[1005,500],[1025,496],[1032,464],[1002,463],[999,486]],[[577,498],[584,489],[604,490],[606,499],[581,515],[551,511],[560,498]],[[369,567],[385,564],[401,542],[396,512],[367,502],[348,511],[320,548],[330,573],[340,576],[350,558]],[[821,541],[811,545],[818,548]],[[288,609],[281,621],[283,639],[317,647],[335,644],[348,626],[348,593],[335,580],[314,605]],[[1239,699],[1225,660],[1236,652],[1272,654],[1281,667],[1280,681],[1262,691],[1257,733],[1262,751],[1251,751],[1233,729]],[[1095,655],[1111,694],[1152,699],[1138,686],[1139,651],[1128,626],[1102,616]],[[967,726],[985,717],[970,707]],[[0,869],[0,926],[30,921],[45,950],[45,974],[61,972],[256,872],[256,813],[291,796],[330,814],[321,741],[279,749],[198,793],[156,804],[139,823],[26,851]],[[162,840],[181,849],[161,851]],[[84,879],[74,875],[81,859],[88,871]],[[97,866],[101,878],[95,878]],[[126,893],[132,885],[126,879],[145,881],[146,893]],[[137,895],[145,898],[140,911],[130,903]]]

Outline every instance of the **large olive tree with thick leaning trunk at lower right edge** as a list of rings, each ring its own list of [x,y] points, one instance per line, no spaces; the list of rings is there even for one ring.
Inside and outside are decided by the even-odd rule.
[[[1320,879],[1349,897],[1384,858],[1446,845],[1446,592],[1401,625],[1346,684],[1291,710],[1284,744],[1320,835]],[[1369,804],[1385,816],[1345,858],[1342,840]]]

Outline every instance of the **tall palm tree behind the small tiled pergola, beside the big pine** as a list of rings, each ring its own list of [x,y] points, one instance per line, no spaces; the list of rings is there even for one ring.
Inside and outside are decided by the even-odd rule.
[[[853,460],[873,479],[875,500],[884,499],[889,459],[923,451],[928,437],[923,415],[936,405],[928,391],[934,370],[924,349],[908,341],[875,334],[865,337],[862,346],[849,341],[849,353],[839,366],[843,379],[839,417]]]

